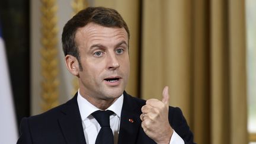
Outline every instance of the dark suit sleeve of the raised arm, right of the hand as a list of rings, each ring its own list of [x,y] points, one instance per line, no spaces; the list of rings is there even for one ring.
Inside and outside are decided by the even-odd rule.
[[[169,107],[169,123],[172,129],[184,140],[185,144],[194,143],[193,133],[190,131],[190,127],[180,108]]]

